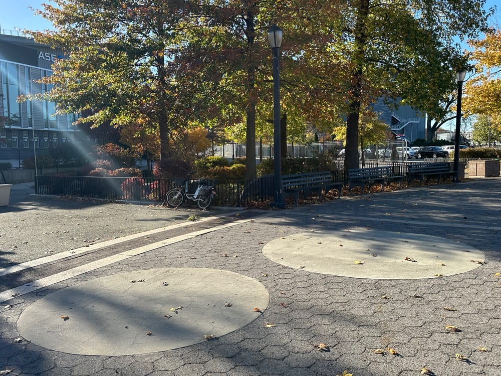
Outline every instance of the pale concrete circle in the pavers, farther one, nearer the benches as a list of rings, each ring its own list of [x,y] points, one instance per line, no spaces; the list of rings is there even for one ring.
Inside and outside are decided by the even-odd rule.
[[[485,260],[479,250],[447,239],[364,229],[290,235],[266,244],[263,254],[293,268],[375,279],[436,278]]]

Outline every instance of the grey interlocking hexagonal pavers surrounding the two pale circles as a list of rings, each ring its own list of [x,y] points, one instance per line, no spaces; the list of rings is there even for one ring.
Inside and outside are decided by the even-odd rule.
[[[327,376],[343,370],[354,376],[411,376],[422,368],[436,376],[501,375],[501,277],[495,275],[501,272],[499,187],[501,180],[479,180],[279,211],[14,298],[7,302],[13,307],[0,308],[0,369],[65,376]],[[261,252],[278,237],[353,227],[460,241],[484,252],[486,263],[448,277],[374,280],[283,267]],[[40,297],[90,278],[152,267],[241,273],[266,286],[270,306],[259,307],[263,313],[257,312],[255,321],[216,340],[144,355],[71,355],[15,342],[20,313]],[[320,343],[329,351],[315,347]]]

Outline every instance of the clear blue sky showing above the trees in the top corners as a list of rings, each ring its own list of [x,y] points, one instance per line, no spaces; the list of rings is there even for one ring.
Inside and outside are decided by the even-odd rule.
[[[35,16],[30,6],[34,9],[42,9],[42,3],[53,4],[51,0],[0,0],[0,28],[7,30],[50,29],[51,24],[42,16]],[[486,8],[499,4],[499,0],[487,0]],[[497,11],[501,16],[501,9]]]

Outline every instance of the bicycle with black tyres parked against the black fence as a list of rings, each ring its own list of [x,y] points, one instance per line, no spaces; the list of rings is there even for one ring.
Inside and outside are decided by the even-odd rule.
[[[172,208],[177,208],[186,200],[190,200],[196,202],[200,209],[207,209],[216,196],[214,186],[208,179],[191,181],[189,175],[186,178],[174,177],[174,185],[176,188],[167,192],[165,197],[167,204]]]

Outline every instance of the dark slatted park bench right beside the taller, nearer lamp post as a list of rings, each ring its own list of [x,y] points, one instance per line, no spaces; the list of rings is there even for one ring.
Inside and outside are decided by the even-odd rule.
[[[338,197],[341,197],[341,189],[344,183],[334,181],[330,171],[304,172],[294,175],[282,175],[282,191],[285,196],[294,195],[296,206],[299,201],[299,194],[303,192],[306,198],[312,193],[318,194],[318,201],[322,198],[322,191],[329,192],[332,189],[338,190]]]

